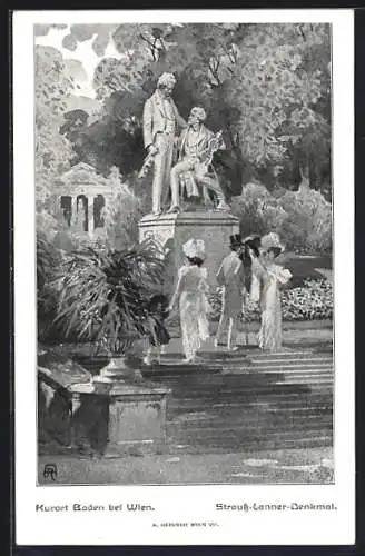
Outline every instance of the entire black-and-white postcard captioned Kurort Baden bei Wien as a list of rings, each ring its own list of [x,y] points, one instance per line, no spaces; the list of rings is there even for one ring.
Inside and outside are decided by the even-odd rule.
[[[353,43],[14,12],[17,544],[354,544]]]

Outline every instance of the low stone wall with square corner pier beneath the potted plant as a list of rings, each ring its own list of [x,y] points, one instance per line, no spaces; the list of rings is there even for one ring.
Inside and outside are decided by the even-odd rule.
[[[70,449],[88,446],[106,457],[164,451],[170,389],[121,378],[112,365],[107,375],[100,380],[45,349],[38,357],[39,436],[56,435]]]

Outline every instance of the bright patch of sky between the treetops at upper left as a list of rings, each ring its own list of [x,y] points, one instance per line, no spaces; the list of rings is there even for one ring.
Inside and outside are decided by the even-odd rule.
[[[80,89],[75,89],[75,95],[80,97],[96,98],[96,92],[92,88],[92,78],[93,78],[93,71],[99,61],[101,60],[101,58],[99,58],[95,53],[91,47],[96,34],[91,37],[91,39],[89,40],[78,42],[77,49],[71,51],[62,47],[62,40],[67,34],[69,34],[69,32],[70,32],[69,27],[67,27],[66,29],[50,29],[48,31],[48,34],[34,38],[36,44],[40,44],[43,47],[53,47],[62,53],[65,60],[70,60],[70,61],[76,60],[77,62],[80,62],[85,71],[82,71],[82,68],[79,68],[79,70],[77,70],[79,63],[72,64],[73,78],[76,82],[80,86]],[[124,56],[116,50],[112,41],[109,41],[103,58],[116,58],[120,60],[122,57]]]

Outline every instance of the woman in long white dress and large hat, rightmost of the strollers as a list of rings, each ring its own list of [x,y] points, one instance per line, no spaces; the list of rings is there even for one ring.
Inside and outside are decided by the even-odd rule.
[[[260,257],[255,259],[253,271],[260,281],[262,327],[258,346],[264,351],[282,349],[282,302],[280,286],[287,284],[292,272],[276,265],[275,259],[284,251],[276,234],[262,238]]]

